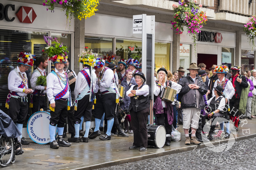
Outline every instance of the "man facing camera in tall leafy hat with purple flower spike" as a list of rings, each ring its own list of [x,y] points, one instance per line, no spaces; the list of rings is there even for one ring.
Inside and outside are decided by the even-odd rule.
[[[45,41],[48,44],[48,47],[45,48],[45,52],[48,54],[49,60],[51,60],[52,64],[55,66],[54,70],[52,70],[52,72],[46,77],[46,91],[51,110],[51,119],[49,124],[51,138],[50,147],[58,149],[59,146],[68,147],[71,145],[63,139],[63,130],[68,110],[72,106],[68,75],[63,70],[65,63],[68,61],[68,51],[67,47],[60,44],[57,39],[44,37],[44,39],[46,38],[52,40],[55,44],[55,46],[51,46],[51,44],[47,43],[48,41]],[[63,51],[65,52],[63,53]],[[56,125],[59,135],[58,143],[55,141]]]

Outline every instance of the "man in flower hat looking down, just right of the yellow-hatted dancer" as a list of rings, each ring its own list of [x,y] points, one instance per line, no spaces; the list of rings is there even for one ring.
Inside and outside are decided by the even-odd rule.
[[[96,104],[93,110],[93,116],[95,118],[95,129],[88,137],[94,139],[100,136],[100,119],[105,113],[105,117],[108,123],[106,134],[99,137],[100,140],[111,140],[111,129],[114,124],[115,106],[118,103],[118,89],[115,83],[114,72],[105,66],[105,61],[96,58],[95,62],[95,74],[98,77],[96,79]]]

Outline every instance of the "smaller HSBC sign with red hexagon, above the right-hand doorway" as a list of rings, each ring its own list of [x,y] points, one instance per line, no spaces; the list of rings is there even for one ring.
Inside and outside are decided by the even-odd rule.
[[[221,33],[201,31],[200,33],[198,33],[197,41],[221,43],[222,35]]]

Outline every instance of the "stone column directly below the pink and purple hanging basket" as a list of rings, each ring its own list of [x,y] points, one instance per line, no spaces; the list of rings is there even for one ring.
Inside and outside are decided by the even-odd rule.
[[[180,67],[180,34],[173,31],[172,43],[172,72],[178,70]]]

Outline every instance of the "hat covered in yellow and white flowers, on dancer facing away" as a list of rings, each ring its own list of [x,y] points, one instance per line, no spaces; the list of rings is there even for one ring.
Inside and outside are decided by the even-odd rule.
[[[87,51],[82,51],[82,54],[78,56],[80,63],[94,67],[98,54],[94,53],[92,49],[88,49]]]

